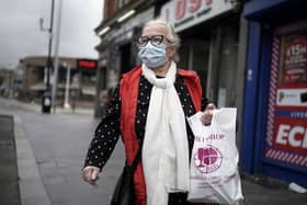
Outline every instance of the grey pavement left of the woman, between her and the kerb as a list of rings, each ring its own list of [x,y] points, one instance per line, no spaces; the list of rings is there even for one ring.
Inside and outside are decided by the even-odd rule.
[[[35,106],[21,107],[0,100],[0,113],[19,115],[35,155],[47,195],[53,205],[107,205],[124,166],[118,141],[96,186],[82,181],[81,168],[95,125],[91,113],[41,114]]]

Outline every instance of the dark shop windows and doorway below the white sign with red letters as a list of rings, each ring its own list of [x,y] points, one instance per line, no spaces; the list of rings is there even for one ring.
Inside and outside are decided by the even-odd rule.
[[[179,53],[180,68],[195,70],[204,96],[219,107],[235,106],[238,81],[238,19],[215,26],[191,29],[183,33]]]

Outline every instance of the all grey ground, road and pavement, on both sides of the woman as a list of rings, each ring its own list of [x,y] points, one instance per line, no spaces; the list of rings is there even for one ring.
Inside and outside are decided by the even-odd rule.
[[[81,180],[86,151],[98,119],[92,111],[57,109],[0,98],[0,205],[107,205],[124,164],[118,143],[100,180]],[[241,173],[246,205],[306,205],[307,193],[265,175]]]

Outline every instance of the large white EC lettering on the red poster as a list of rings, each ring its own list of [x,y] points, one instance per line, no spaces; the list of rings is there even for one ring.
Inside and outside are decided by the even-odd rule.
[[[307,127],[291,127],[291,125],[281,124],[276,136],[276,144],[307,148]]]

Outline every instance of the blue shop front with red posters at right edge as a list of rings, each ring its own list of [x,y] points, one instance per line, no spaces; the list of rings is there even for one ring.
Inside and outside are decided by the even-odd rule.
[[[253,0],[241,167],[307,186],[307,15],[303,1]],[[285,15],[286,14],[286,15]]]

